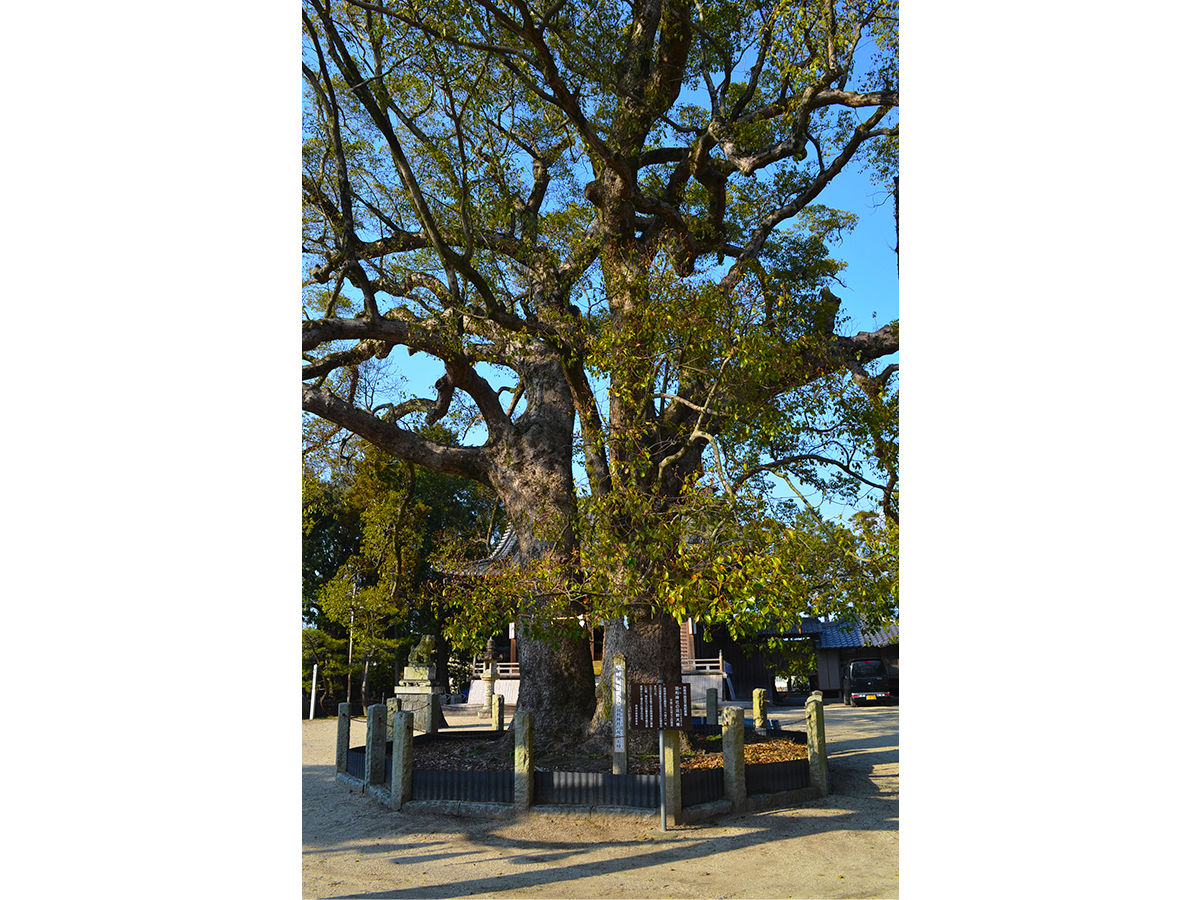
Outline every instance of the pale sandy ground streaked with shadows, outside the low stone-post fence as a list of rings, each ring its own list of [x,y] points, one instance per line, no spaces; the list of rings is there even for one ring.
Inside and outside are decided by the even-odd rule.
[[[336,719],[304,721],[304,896],[896,898],[899,709],[829,703],[826,731],[828,797],[664,834],[656,814],[392,812],[336,782]],[[365,739],[355,719],[352,746]]]

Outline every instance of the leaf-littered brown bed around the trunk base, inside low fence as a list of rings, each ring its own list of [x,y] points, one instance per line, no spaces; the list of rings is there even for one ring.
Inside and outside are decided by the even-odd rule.
[[[684,769],[715,769],[724,766],[721,738],[702,738],[686,732],[682,736]],[[809,749],[794,732],[769,737],[745,732],[745,761],[750,764],[803,760]],[[570,748],[540,748],[534,750],[534,767],[558,772],[612,772],[612,755],[595,744]],[[413,768],[460,769],[467,772],[500,772],[512,768],[512,736],[440,740],[413,748]],[[659,770],[658,734],[653,732],[630,736],[630,774],[654,774]]]

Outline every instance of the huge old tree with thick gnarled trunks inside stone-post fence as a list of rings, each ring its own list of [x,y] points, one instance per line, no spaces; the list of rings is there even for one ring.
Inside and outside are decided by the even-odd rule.
[[[790,583],[767,473],[895,526],[899,325],[840,334],[853,216],[818,203],[895,190],[894,0],[306,0],[302,32],[304,409],[494,491],[539,733],[607,727],[580,617],[605,676],[678,682],[685,614]],[[414,353],[436,396],[364,390]],[[463,410],[486,439],[430,437]]]

